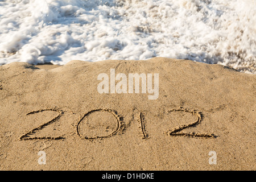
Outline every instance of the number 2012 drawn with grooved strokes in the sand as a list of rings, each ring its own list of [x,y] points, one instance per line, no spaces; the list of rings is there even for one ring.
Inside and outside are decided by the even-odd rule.
[[[38,113],[42,113],[44,111],[55,111],[57,114],[56,117],[53,117],[51,120],[49,120],[46,123],[43,123],[43,125],[39,125],[38,127],[35,127],[34,129],[28,131],[27,133],[23,134],[19,139],[20,140],[40,140],[40,139],[48,139],[48,140],[60,140],[60,139],[64,139],[63,137],[32,137],[31,135],[35,134],[36,131],[39,130],[43,130],[44,127],[51,125],[52,123],[58,121],[61,117],[61,115],[64,113],[64,111],[62,110],[58,110],[58,109],[42,109],[42,110],[37,110],[37,111],[31,111],[30,113],[27,113],[27,115],[31,115],[31,114],[38,114]],[[83,134],[83,132],[80,130],[81,129],[81,122],[86,118],[89,117],[89,115],[100,111],[100,112],[106,112],[109,113],[110,115],[112,115],[112,117],[114,117],[115,122],[117,123],[116,127],[111,131],[111,133],[105,134],[105,135],[86,135]],[[177,128],[168,130],[166,132],[167,135],[170,136],[183,136],[183,137],[196,137],[196,138],[215,138],[216,136],[214,134],[200,134],[200,133],[182,133],[181,131],[184,129],[187,129],[189,127],[192,126],[196,126],[199,125],[201,120],[202,120],[202,113],[195,111],[195,110],[189,110],[189,109],[183,109],[182,107],[180,107],[179,109],[172,109],[172,110],[168,110],[168,113],[172,113],[172,112],[176,112],[176,111],[181,111],[181,112],[185,112],[185,113],[190,113],[192,115],[195,115],[197,117],[195,122],[189,123],[188,125],[181,125]],[[139,112],[138,114],[138,122],[139,122],[139,127],[141,129],[141,133],[142,133],[142,138],[143,139],[147,139],[148,138],[148,134],[146,132],[145,126],[144,126],[144,116],[142,112]],[[94,139],[104,139],[104,138],[109,138],[109,137],[113,137],[115,134],[118,133],[118,131],[121,131],[123,129],[124,125],[122,123],[122,119],[121,117],[117,114],[117,111],[114,111],[112,109],[94,109],[94,110],[90,110],[88,113],[84,114],[81,119],[79,120],[79,122],[77,122],[76,124],[76,133],[77,135],[79,135],[79,137],[81,139],[87,139],[87,140],[94,140]]]

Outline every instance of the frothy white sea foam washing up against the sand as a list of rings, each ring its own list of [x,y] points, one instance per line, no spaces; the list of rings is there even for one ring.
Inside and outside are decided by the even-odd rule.
[[[255,0],[0,0],[0,64],[155,56],[256,73]]]

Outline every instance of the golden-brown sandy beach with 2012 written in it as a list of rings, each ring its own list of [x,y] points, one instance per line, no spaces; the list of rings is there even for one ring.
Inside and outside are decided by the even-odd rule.
[[[159,74],[158,97],[99,93],[110,69]],[[164,57],[2,65],[0,169],[255,170],[255,78]]]

